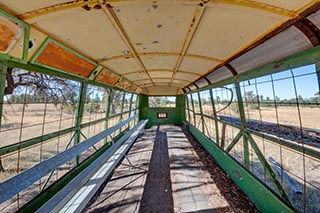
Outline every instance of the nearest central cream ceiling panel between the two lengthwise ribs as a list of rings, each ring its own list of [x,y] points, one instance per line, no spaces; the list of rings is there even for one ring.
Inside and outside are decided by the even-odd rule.
[[[196,5],[114,6],[137,52],[180,52]],[[148,30],[146,30],[148,29]]]

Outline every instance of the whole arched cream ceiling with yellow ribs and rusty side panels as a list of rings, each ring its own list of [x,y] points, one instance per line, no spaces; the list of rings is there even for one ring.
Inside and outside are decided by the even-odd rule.
[[[319,0],[2,0],[0,8],[62,44],[49,43],[34,62],[152,95],[223,80],[320,38],[319,14],[308,19]],[[12,23],[0,16],[2,52],[21,39]],[[268,54],[285,38],[295,42]]]

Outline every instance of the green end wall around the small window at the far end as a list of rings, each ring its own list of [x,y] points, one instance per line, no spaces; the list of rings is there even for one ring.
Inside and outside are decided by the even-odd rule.
[[[139,95],[139,119],[149,119],[146,128],[150,128],[157,124],[177,124],[181,125],[182,121],[185,120],[185,96],[176,96],[176,107],[175,108],[150,108],[148,104],[148,96]],[[158,112],[168,113],[168,118],[158,119]]]

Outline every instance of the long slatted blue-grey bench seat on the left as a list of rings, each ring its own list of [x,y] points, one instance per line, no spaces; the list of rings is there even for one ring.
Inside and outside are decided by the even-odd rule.
[[[133,142],[138,137],[140,131],[145,127],[148,120],[142,120],[136,124],[129,132],[111,146],[103,155],[90,164],[84,171],[75,177],[68,185],[55,194],[48,202],[41,206],[36,212],[59,212],[63,208],[67,208],[72,201],[78,205],[71,204],[74,212],[81,212],[86,203],[91,200],[96,190],[109,176],[113,169],[117,166],[123,155],[128,151]],[[85,187],[90,185],[90,187]],[[82,190],[82,188],[86,188]],[[77,194],[81,193],[81,196]],[[75,201],[75,198],[80,199]],[[81,203],[81,205],[79,204]],[[68,211],[71,211],[68,209]]]

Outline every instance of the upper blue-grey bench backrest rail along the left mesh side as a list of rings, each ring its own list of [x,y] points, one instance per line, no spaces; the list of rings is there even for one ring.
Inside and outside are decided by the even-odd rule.
[[[81,154],[83,151],[90,148],[92,145],[98,143],[99,141],[106,138],[108,135],[111,135],[117,129],[121,128],[122,126],[130,123],[132,120],[136,119],[137,115],[128,118],[127,120],[114,125],[99,134],[71,147],[70,149],[65,150],[52,158],[49,158],[34,167],[21,172],[20,174],[4,181],[0,184],[0,203],[8,200],[15,194],[19,193],[20,191],[28,188],[34,182],[39,180],[40,178],[47,175],[49,172],[53,171],[54,169],[58,168],[62,164],[72,160],[75,156]]]

